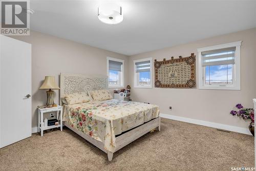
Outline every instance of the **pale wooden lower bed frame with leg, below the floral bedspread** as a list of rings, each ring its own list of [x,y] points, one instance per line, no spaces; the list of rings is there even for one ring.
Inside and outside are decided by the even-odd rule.
[[[116,137],[115,152],[118,151],[119,149],[121,149],[122,147],[124,147],[125,145],[130,144],[134,140],[140,138],[141,136],[145,135],[146,133],[148,133],[148,132],[150,132],[154,129],[157,129],[158,131],[160,131],[160,122],[161,122],[160,117],[152,119],[151,121],[148,121],[148,122],[146,122],[146,123],[144,123],[140,126],[137,126],[135,129],[127,131],[126,133]],[[97,146],[99,149],[101,149],[106,154],[108,154],[109,161],[112,160],[114,153],[106,151],[104,149],[103,142],[95,140],[94,138],[90,137],[89,135],[84,134],[84,133],[76,130],[68,122],[64,122],[64,125],[67,126],[70,130],[74,131],[79,136],[81,136],[82,138],[86,139],[87,141],[89,141],[93,145]]]

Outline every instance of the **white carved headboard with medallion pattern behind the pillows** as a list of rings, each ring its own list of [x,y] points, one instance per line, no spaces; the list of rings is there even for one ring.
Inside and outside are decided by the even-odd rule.
[[[66,94],[108,89],[108,76],[60,73],[60,105]]]

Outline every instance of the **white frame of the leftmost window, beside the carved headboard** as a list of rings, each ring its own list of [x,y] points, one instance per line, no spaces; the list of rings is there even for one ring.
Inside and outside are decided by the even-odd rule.
[[[122,62],[123,65],[121,67],[121,74],[120,74],[120,85],[117,86],[110,86],[109,84],[109,61],[110,60],[114,60],[114,61],[118,61],[118,62]],[[106,57],[106,75],[108,75],[108,86],[109,88],[124,88],[124,60],[122,59],[117,59],[117,58],[113,58],[113,57]]]

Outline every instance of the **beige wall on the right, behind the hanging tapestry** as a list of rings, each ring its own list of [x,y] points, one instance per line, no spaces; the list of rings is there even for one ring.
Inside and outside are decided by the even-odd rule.
[[[256,79],[254,75],[256,73],[255,39],[256,28],[130,56],[129,82],[132,86],[132,99],[133,101],[157,104],[160,107],[160,113],[163,114],[247,127],[248,123],[231,116],[229,112],[236,103],[242,103],[247,108],[252,108],[253,106],[252,99],[256,97]],[[239,40],[243,41],[241,46],[241,91],[161,88],[138,89],[133,87],[133,60],[135,59],[152,57],[153,59],[163,60],[163,58],[170,59],[171,56],[178,57],[181,55],[185,57],[191,53],[197,55],[197,48]],[[169,106],[173,107],[172,111],[168,110]]]

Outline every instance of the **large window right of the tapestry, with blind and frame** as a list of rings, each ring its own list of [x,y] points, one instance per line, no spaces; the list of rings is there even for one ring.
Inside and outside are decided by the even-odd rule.
[[[241,90],[241,41],[198,49],[199,89]]]

